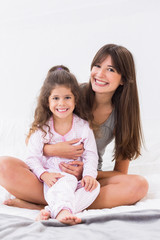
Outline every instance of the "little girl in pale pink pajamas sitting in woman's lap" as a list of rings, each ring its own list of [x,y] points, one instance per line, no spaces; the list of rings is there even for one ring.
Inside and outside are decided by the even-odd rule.
[[[48,206],[41,210],[37,220],[55,218],[65,224],[77,224],[81,219],[74,214],[87,208],[99,194],[96,181],[98,155],[96,142],[86,118],[76,78],[64,66],[53,67],[41,88],[34,121],[28,134],[26,163],[44,183],[44,196]],[[82,180],[65,172],[59,164],[72,159],[46,157],[45,144],[79,139],[84,152]]]

